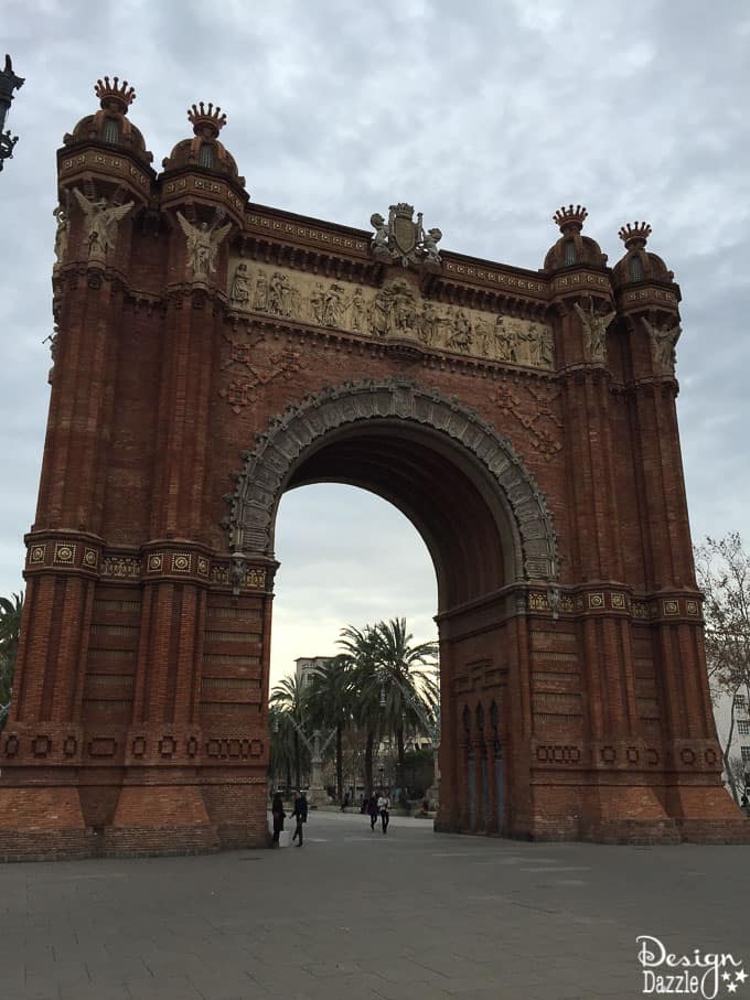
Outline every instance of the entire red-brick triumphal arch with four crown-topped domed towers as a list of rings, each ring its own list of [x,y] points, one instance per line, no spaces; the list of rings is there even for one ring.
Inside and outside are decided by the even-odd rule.
[[[157,173],[132,89],[96,94],[58,152],[0,857],[266,842],[275,517],[320,481],[432,556],[438,829],[741,839],[650,227],[611,268],[569,206],[538,271],[480,260],[406,203],[365,229],[256,204],[211,105]]]

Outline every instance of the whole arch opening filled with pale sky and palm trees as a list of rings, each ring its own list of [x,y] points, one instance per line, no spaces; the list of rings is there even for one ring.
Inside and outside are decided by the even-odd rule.
[[[375,494],[322,483],[285,494],[276,547],[281,566],[270,658],[271,784],[286,792],[306,787],[315,805],[362,805],[383,788],[396,802],[427,797],[433,808],[437,581],[419,534]],[[381,705],[377,678],[338,659],[345,652],[340,639],[346,631],[371,628],[397,639],[401,625],[404,670],[394,678],[384,669]],[[413,662],[419,649],[424,659]],[[318,765],[315,732],[324,744]]]

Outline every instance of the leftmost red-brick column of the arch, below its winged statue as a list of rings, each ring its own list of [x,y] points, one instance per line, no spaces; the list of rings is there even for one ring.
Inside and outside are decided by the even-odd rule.
[[[90,852],[78,792],[83,693],[119,352],[122,286],[104,264],[56,279],[58,334],[13,703],[0,741],[0,857]],[[41,785],[47,785],[43,791]],[[54,791],[51,791],[54,789]]]

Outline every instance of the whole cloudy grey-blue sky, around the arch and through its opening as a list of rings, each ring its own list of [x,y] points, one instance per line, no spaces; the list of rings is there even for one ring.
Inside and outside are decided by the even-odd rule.
[[[267,205],[367,228],[408,201],[447,249],[542,266],[561,204],[614,262],[647,219],[683,290],[681,429],[693,534],[750,539],[750,4],[746,0],[4,0],[25,77],[0,174],[0,594],[22,584],[49,388],[55,150],[135,85],[154,165],[195,100]],[[0,52],[0,55],[2,53]],[[363,530],[363,527],[365,530]],[[331,544],[331,538],[335,544]],[[406,615],[433,634],[427,550],[393,507],[344,486],[287,495],[275,673],[335,652],[345,624]]]

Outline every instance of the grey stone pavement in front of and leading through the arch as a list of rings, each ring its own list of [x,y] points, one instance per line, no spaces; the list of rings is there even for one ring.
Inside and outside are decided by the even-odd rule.
[[[0,997],[630,1000],[639,934],[733,953],[750,974],[749,857],[408,818],[384,837],[358,814],[311,813],[301,850],[8,864]],[[750,1000],[750,978],[735,996]]]

